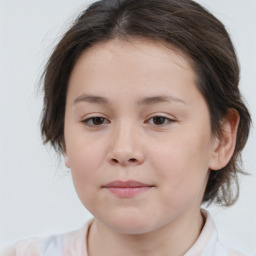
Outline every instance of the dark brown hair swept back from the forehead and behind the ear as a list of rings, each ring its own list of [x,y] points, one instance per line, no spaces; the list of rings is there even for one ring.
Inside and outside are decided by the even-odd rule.
[[[66,93],[72,69],[85,50],[116,38],[155,40],[184,53],[208,104],[214,135],[220,134],[221,120],[229,109],[239,113],[234,154],[224,168],[210,170],[202,199],[207,204],[234,204],[239,194],[237,174],[245,173],[241,151],[251,118],[239,92],[239,65],[228,32],[216,17],[191,0],[101,0],[83,11],[55,47],[42,76],[44,143],[50,142],[57,152],[63,152]]]

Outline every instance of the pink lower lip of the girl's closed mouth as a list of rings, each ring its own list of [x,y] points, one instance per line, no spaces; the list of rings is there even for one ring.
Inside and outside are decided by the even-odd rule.
[[[129,198],[148,191],[152,187],[106,187],[111,193],[122,197]]]

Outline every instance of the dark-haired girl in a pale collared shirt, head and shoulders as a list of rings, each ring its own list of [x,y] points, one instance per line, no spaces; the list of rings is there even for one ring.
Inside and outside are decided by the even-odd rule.
[[[223,24],[190,0],[102,0],[44,73],[42,134],[94,218],[6,255],[243,255],[202,203],[232,205],[250,114]]]

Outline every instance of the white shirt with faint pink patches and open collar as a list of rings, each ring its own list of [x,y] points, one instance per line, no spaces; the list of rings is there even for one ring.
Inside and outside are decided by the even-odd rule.
[[[202,210],[206,222],[195,244],[184,256],[245,256],[224,246],[218,239],[210,214]],[[16,256],[88,256],[86,237],[94,219],[80,230],[47,238],[32,238],[15,244]],[[13,254],[1,254],[9,256]],[[108,256],[108,255],[107,255]]]

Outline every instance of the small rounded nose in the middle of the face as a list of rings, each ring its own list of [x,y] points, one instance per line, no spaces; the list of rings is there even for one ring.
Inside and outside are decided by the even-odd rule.
[[[142,139],[134,125],[120,125],[113,131],[108,161],[111,165],[140,165],[144,162]]]

